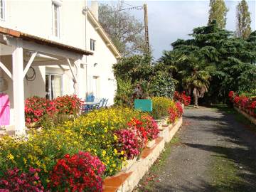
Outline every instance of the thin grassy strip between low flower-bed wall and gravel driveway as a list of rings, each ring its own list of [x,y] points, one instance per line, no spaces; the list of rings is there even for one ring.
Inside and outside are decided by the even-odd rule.
[[[149,172],[142,178],[141,181],[139,181],[139,187],[137,188],[137,191],[139,192],[148,192],[153,191],[152,187],[154,185],[154,182],[158,182],[157,175],[159,174],[159,171],[163,166],[166,165],[166,161],[168,157],[171,154],[171,146],[174,146],[176,144],[180,143],[180,139],[177,136],[174,136],[173,139],[171,139],[171,142],[166,144],[164,151],[160,154],[159,158],[156,159],[154,164],[149,169]]]

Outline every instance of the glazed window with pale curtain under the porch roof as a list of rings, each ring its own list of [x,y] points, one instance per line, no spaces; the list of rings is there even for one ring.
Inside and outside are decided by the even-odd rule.
[[[53,100],[63,95],[62,75],[46,74],[46,98]]]

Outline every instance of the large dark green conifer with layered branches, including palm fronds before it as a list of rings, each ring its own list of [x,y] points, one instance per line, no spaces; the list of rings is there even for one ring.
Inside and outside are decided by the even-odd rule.
[[[174,65],[171,68],[176,69],[174,77],[178,80],[178,87],[193,87],[196,78],[196,84],[203,91],[199,93],[208,90],[206,100],[214,103],[225,102],[229,90],[256,90],[256,32],[251,33],[247,40],[235,38],[232,32],[213,22],[209,26],[194,28],[191,36],[193,38],[186,41],[178,39],[172,43],[174,50],[161,58],[168,67]]]

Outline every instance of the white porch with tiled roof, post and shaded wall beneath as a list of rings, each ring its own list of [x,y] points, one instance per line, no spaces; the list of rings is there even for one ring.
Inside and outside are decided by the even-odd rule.
[[[0,27],[0,92],[10,100],[9,129],[25,134],[27,97],[53,98],[60,92],[85,97],[85,55],[92,53]],[[53,91],[58,84],[65,86]]]

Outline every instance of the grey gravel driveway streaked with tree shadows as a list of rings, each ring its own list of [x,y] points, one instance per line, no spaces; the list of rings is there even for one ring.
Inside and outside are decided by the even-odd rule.
[[[236,122],[234,114],[206,107],[186,109],[177,135],[180,141],[170,146],[164,166],[154,168],[159,170],[150,188],[137,191],[256,191],[256,134]],[[225,164],[232,164],[230,173]],[[223,167],[224,173],[215,167]],[[216,176],[218,180],[226,174],[227,181],[220,178],[224,182],[215,183]]]

